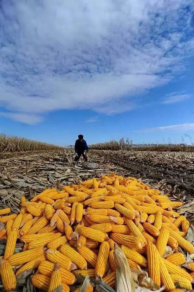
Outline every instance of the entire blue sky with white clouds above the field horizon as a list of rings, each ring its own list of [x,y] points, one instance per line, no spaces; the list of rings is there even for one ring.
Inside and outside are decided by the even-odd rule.
[[[0,25],[0,133],[194,140],[193,1],[2,0]]]

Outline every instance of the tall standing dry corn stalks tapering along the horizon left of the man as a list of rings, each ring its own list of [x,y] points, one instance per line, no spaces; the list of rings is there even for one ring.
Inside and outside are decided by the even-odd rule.
[[[63,147],[59,147],[53,144],[0,134],[0,153],[38,150],[58,150],[62,148]]]

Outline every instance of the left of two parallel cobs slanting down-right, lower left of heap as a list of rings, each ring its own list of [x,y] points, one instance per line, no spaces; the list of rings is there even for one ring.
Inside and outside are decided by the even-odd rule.
[[[58,250],[49,249],[46,251],[46,258],[52,263],[59,263],[65,270],[74,269],[75,265],[72,263],[69,256],[65,256]]]

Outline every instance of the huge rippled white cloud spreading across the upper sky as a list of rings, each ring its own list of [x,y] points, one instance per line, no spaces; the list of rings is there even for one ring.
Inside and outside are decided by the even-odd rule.
[[[192,0],[4,0],[0,106],[40,120],[58,109],[137,107],[193,53],[192,8]]]

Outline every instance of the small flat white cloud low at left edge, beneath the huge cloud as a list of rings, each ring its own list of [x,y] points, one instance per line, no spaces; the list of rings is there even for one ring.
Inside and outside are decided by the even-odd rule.
[[[19,121],[29,125],[35,125],[42,122],[43,118],[35,114],[22,114],[22,113],[4,113],[0,112],[0,116],[10,118],[14,121]]]

